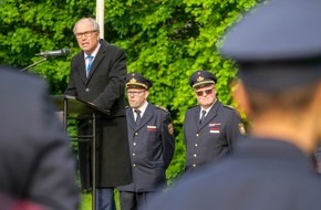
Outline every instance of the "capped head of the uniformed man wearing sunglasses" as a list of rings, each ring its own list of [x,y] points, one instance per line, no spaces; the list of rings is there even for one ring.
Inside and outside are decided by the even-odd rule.
[[[216,76],[208,71],[197,71],[189,77],[189,85],[194,88],[197,102],[203,108],[210,107],[216,101]]]

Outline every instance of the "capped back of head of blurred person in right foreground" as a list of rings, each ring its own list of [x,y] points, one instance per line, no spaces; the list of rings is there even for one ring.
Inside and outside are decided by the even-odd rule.
[[[321,137],[320,8],[319,0],[268,1],[226,34],[220,51],[238,65],[240,104],[252,119],[309,117]]]

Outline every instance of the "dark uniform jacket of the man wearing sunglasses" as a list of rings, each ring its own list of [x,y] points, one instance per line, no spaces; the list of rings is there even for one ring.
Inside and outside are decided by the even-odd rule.
[[[199,112],[198,105],[189,108],[185,116],[187,171],[229,155],[234,144],[244,133],[238,113],[219,101],[216,101],[201,124]]]

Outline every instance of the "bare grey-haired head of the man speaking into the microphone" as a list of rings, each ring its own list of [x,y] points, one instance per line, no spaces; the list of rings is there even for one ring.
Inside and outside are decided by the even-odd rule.
[[[92,18],[83,18],[74,24],[73,33],[79,46],[86,54],[92,54],[100,42],[99,23]]]

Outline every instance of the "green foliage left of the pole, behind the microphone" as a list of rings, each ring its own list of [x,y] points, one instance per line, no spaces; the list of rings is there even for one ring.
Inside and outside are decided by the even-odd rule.
[[[76,0],[3,0],[0,2],[0,62],[25,67],[41,60],[35,53],[70,48],[79,49],[73,38],[74,22],[92,15],[95,2]],[[50,59],[30,71],[41,74],[61,93],[66,84],[71,55]]]

